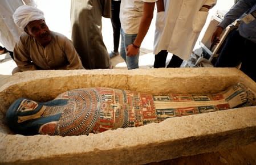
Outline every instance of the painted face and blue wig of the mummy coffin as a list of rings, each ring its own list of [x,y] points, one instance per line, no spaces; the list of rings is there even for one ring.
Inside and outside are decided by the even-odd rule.
[[[64,103],[66,101],[63,101]],[[54,111],[57,105],[56,101],[54,103],[49,102],[49,105],[52,105],[54,108],[44,104],[26,98],[18,99],[14,101],[7,111],[6,121],[15,133],[26,135],[38,134],[42,125],[58,121],[62,112]],[[57,109],[62,110],[58,107]],[[44,129],[44,132],[46,132],[46,129]]]

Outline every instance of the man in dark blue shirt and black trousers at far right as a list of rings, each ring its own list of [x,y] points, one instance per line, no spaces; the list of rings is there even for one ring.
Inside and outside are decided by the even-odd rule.
[[[213,32],[212,42],[217,39],[219,43],[223,30],[245,12],[247,15],[242,18],[238,29],[227,36],[214,67],[236,67],[242,62],[240,70],[256,82],[256,0],[240,0],[235,3]]]

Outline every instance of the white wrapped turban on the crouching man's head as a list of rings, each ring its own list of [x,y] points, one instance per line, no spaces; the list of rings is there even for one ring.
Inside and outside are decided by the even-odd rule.
[[[22,30],[24,30],[31,21],[40,19],[45,20],[43,11],[29,5],[19,6],[13,14],[15,24]]]

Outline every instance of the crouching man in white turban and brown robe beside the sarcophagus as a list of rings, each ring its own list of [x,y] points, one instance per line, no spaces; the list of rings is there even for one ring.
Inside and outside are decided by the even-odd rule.
[[[23,33],[14,47],[14,61],[18,71],[46,69],[84,69],[72,41],[50,31],[43,11],[23,5],[13,14],[15,24]]]

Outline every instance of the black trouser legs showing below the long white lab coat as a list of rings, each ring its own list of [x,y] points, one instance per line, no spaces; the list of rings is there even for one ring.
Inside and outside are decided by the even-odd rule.
[[[161,50],[158,54],[156,54],[154,67],[155,68],[165,67],[167,55],[168,55],[167,50]],[[180,67],[182,62],[183,60],[180,57],[173,54],[172,59],[170,60],[169,64],[166,67]]]

